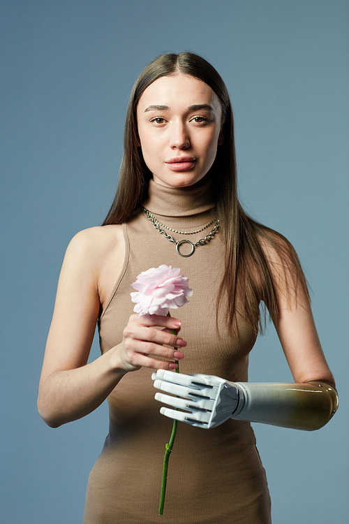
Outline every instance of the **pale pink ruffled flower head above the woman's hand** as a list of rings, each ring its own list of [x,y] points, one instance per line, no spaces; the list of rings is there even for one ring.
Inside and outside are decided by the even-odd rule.
[[[145,314],[167,315],[168,310],[175,310],[188,302],[186,297],[193,294],[188,286],[188,279],[179,275],[179,268],[170,265],[160,265],[142,271],[133,282],[131,300],[136,305],[133,311],[140,316]]]

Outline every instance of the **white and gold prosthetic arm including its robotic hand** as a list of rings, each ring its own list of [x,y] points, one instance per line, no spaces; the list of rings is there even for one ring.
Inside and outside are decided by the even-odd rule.
[[[251,384],[165,370],[151,378],[155,388],[176,395],[156,393],[156,400],[176,408],[162,407],[161,413],[199,428],[236,419],[312,431],[332,419],[338,407],[336,389],[321,381]]]

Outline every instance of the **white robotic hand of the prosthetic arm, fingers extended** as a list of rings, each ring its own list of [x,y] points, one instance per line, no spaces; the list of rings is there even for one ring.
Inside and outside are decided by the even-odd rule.
[[[158,370],[151,378],[154,388],[176,395],[172,397],[156,393],[156,400],[185,410],[162,407],[161,414],[198,428],[216,428],[230,419],[239,405],[237,386],[220,377]]]

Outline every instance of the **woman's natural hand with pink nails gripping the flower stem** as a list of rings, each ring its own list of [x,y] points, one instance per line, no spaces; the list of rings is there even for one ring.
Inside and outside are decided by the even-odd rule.
[[[159,327],[163,329],[157,329]],[[178,337],[180,328],[181,321],[171,316],[139,317],[138,314],[132,314],[124,329],[121,344],[112,350],[113,366],[125,373],[139,370],[142,366],[154,370],[176,369],[178,365],[174,361],[184,358],[184,354],[178,349],[186,346],[186,341]],[[175,330],[176,335],[171,330]],[[170,361],[162,360],[163,358]]]

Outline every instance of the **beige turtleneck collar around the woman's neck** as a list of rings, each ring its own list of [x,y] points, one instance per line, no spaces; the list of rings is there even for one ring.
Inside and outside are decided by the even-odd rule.
[[[191,217],[214,208],[211,179],[204,177],[189,187],[166,187],[149,182],[148,198],[143,203],[152,213],[163,217]]]

